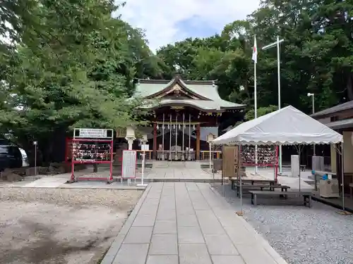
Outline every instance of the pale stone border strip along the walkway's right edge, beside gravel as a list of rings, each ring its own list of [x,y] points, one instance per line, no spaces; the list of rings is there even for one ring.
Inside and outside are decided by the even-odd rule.
[[[221,199],[225,199],[222,195],[220,195],[220,193],[215,190],[215,188],[210,186],[210,189],[215,193],[215,195],[219,196]],[[232,208],[232,206],[230,206],[230,204],[227,202],[227,206],[229,206],[229,208]],[[234,212],[235,213],[235,212]],[[249,222],[247,222],[243,217],[236,215],[237,218],[239,218],[241,220],[241,222],[243,222],[244,227],[249,230],[249,232],[252,232],[254,234],[254,237],[256,237],[256,240],[258,240],[261,243],[261,246],[263,246],[263,249],[265,249],[265,251],[278,263],[278,264],[288,264],[287,261],[282,258],[282,256],[280,256],[280,254],[275,251],[275,249],[273,249],[273,247],[268,243],[268,240],[265,239],[265,237],[263,237],[262,234],[259,234],[258,232],[256,232],[255,228],[253,228],[252,225],[250,225]]]

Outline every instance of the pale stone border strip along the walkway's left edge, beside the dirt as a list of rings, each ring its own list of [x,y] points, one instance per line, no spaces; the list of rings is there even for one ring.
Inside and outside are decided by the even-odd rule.
[[[119,234],[116,236],[114,239],[112,245],[108,249],[107,253],[105,254],[104,258],[102,259],[100,264],[112,264],[116,254],[118,253],[121,244],[123,244],[123,241],[125,239],[125,236],[127,232],[121,232],[123,230],[129,230],[131,225],[133,224],[133,220],[135,220],[136,215],[138,214],[138,211],[140,210],[141,206],[143,205],[143,202],[145,201],[146,197],[148,196],[148,193],[150,192],[151,189],[151,184],[148,184],[148,187],[146,187],[145,191],[143,192],[142,196],[138,200],[138,203],[136,203],[136,206],[133,208],[131,214],[128,216],[126,219],[123,227],[121,227],[121,230],[119,230]]]

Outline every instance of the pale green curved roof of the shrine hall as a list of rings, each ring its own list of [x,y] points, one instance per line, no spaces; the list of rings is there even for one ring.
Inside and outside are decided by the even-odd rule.
[[[161,99],[160,105],[169,104],[187,104],[190,106],[195,106],[196,108],[201,108],[205,110],[221,110],[227,108],[244,108],[244,104],[232,103],[225,101],[220,98],[217,91],[217,85],[213,81],[184,81],[178,78],[178,80],[140,80],[136,84],[135,96],[148,97],[153,96],[162,92],[163,89],[173,84],[173,82],[179,82],[181,87],[186,87],[194,94],[202,96],[203,99]],[[151,108],[150,104],[146,102],[144,108]]]

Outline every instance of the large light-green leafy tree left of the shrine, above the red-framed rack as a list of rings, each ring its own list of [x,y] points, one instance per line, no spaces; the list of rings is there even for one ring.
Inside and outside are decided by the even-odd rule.
[[[29,153],[37,140],[44,161],[62,159],[54,146],[71,127],[140,123],[140,100],[128,98],[133,79],[145,74],[137,75],[138,63],[150,53],[138,31],[111,17],[116,8],[113,1],[37,1],[28,10],[35,20],[2,53],[1,65],[8,65],[2,132]]]

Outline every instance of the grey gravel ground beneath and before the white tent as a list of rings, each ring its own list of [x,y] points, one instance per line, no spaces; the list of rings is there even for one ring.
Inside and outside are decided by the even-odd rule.
[[[240,199],[230,186],[213,187],[234,210],[240,209]],[[291,197],[258,200],[265,205],[251,206],[249,194],[245,195],[244,218],[289,264],[353,263],[353,215],[339,215],[337,209],[316,201],[306,208],[301,199]]]

